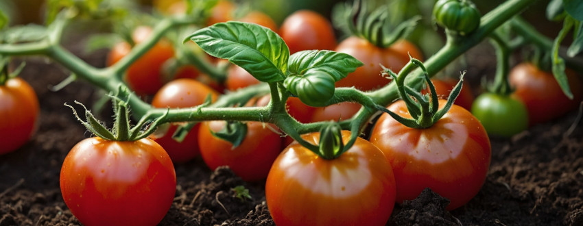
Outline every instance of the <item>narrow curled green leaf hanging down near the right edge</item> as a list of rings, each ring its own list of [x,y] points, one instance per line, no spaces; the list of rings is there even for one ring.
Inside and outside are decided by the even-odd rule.
[[[567,74],[564,73],[565,64],[564,60],[559,56],[559,47],[560,43],[567,36],[567,33],[573,27],[573,23],[575,20],[571,16],[567,16],[564,20],[563,27],[560,30],[558,36],[555,38],[553,42],[553,75],[557,80],[559,86],[561,87],[564,95],[569,97],[569,99],[573,99],[573,93],[571,92],[571,88],[569,88],[569,80],[567,79]]]

